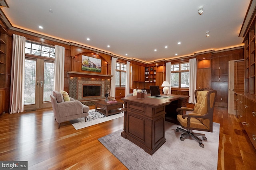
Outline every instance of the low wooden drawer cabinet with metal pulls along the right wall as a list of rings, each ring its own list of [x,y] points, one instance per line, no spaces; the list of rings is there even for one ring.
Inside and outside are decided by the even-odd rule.
[[[236,93],[235,101],[236,114],[256,149],[256,97]]]

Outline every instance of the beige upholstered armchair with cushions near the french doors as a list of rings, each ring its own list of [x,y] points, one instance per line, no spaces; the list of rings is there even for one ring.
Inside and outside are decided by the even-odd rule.
[[[55,120],[59,123],[58,128],[60,128],[60,123],[64,121],[70,121],[80,117],[84,117],[86,121],[86,116],[88,116],[90,109],[88,106],[83,105],[80,101],[74,100],[73,98],[70,98],[68,102],[64,102],[62,94],[57,91],[53,91],[50,98]]]

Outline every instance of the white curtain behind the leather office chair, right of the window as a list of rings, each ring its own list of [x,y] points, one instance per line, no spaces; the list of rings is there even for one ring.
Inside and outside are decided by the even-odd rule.
[[[196,90],[196,59],[189,59],[189,96],[188,103],[196,103],[195,90]]]

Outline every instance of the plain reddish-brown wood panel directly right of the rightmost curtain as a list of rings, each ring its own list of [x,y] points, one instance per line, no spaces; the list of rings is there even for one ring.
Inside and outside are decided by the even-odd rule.
[[[210,88],[211,68],[197,69],[196,88]]]

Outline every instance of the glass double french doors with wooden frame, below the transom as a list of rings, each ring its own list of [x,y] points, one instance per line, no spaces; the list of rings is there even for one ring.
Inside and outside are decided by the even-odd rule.
[[[24,110],[51,107],[54,60],[25,59]]]

